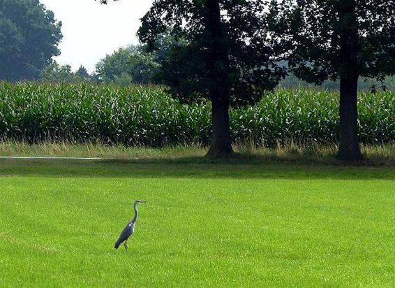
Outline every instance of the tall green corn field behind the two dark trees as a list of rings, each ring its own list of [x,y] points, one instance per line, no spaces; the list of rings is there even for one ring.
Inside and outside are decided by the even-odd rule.
[[[0,138],[3,140],[108,144],[207,145],[209,103],[185,105],[157,86],[0,83]],[[359,94],[362,143],[395,140],[395,92]],[[285,141],[336,143],[338,94],[278,90],[255,106],[231,109],[234,141],[274,147]]]

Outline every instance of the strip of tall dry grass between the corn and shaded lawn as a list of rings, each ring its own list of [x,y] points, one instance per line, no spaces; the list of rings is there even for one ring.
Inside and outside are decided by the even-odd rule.
[[[284,161],[295,164],[334,164],[336,145],[296,145],[288,143],[274,149],[255,145],[234,145],[233,161],[276,163]],[[40,143],[29,145],[15,141],[0,142],[0,157],[88,157],[112,159],[200,159],[207,152],[200,145],[151,147],[126,147],[125,145],[103,145],[102,143]],[[365,164],[395,166],[395,144],[362,145],[368,159]],[[232,159],[230,159],[232,161]]]

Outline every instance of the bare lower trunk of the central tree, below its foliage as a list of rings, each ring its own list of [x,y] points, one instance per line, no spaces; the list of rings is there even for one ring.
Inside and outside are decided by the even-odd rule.
[[[233,153],[230,139],[229,101],[213,99],[211,101],[211,119],[213,121],[213,136],[207,157],[228,157]]]

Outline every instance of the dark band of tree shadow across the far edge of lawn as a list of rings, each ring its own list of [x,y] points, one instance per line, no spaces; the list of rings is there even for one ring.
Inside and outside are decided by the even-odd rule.
[[[237,156],[210,160],[202,157],[147,159],[0,159],[0,177],[50,178],[207,178],[207,179],[339,179],[395,180],[395,167],[360,163],[304,161],[300,164],[265,157]]]

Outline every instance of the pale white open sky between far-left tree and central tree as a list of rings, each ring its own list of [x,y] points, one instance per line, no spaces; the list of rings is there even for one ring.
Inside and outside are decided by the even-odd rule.
[[[40,0],[62,22],[63,40],[59,64],[80,65],[89,73],[107,54],[128,44],[137,43],[140,18],[154,0],[109,0],[101,5],[94,0]]]

